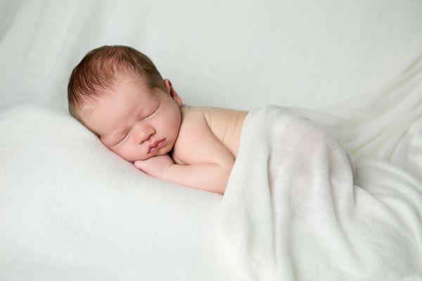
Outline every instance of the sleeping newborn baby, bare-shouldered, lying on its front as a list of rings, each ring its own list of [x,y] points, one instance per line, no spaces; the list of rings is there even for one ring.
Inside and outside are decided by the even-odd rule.
[[[72,70],[70,115],[148,176],[223,194],[247,111],[184,105],[129,46],[89,51]]]

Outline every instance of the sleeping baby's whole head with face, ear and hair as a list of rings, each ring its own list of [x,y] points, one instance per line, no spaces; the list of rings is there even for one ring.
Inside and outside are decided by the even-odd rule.
[[[128,46],[102,46],[72,70],[68,105],[70,115],[104,145],[134,162],[172,150],[183,102],[146,55]]]

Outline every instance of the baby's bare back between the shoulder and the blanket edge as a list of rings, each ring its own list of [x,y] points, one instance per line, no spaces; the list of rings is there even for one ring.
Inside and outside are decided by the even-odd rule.
[[[245,117],[248,115],[248,111],[231,110],[222,107],[188,107],[185,105],[181,107],[181,113],[184,119],[205,117],[205,125],[209,126],[210,131],[212,131],[214,136],[236,159],[243,122],[245,122]],[[191,124],[191,122],[186,122],[186,124]],[[184,126],[184,122],[182,121],[179,134],[184,135],[184,130],[190,129],[189,125]],[[176,164],[185,164],[177,157],[177,143],[174,145],[174,154],[172,155],[172,158]]]

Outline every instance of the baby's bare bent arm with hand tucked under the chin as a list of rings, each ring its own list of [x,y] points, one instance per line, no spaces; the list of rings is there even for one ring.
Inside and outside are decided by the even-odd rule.
[[[223,194],[234,156],[212,133],[203,115],[196,115],[184,124],[177,147],[180,162],[174,164],[168,155],[158,155],[135,166],[146,174],[191,188]]]

